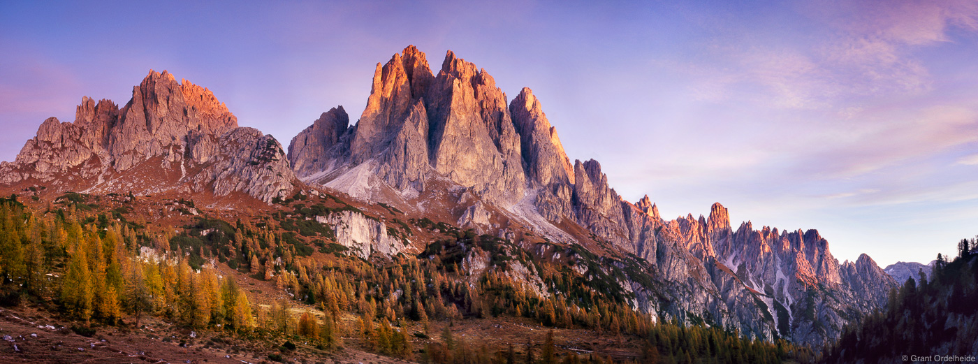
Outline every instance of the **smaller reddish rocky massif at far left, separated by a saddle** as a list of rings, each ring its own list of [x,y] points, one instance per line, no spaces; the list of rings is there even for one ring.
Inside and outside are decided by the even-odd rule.
[[[187,80],[178,83],[165,70],[150,71],[122,109],[109,100],[96,105],[84,97],[73,123],[45,120],[17,159],[0,166],[0,183],[70,179],[60,187],[150,193],[180,186],[200,192],[214,182],[218,196],[241,191],[265,202],[285,196],[294,175],[281,145],[257,130],[239,129],[238,119],[210,90]],[[153,183],[153,191],[140,191],[138,181],[113,184],[149,160],[159,160],[155,169],[160,175],[147,177],[165,180],[167,171],[180,177],[167,186]],[[196,168],[202,170],[199,175],[186,175]]]

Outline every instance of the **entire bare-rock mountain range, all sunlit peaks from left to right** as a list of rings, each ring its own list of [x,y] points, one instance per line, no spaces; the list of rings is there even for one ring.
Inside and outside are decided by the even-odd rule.
[[[657,320],[811,345],[885,306],[906,280],[867,254],[840,263],[817,230],[734,227],[719,203],[705,216],[666,219],[647,196],[625,201],[599,161],[567,157],[529,88],[509,100],[485,69],[448,51],[434,72],[414,46],[377,65],[358,120],[332,108],[291,139],[288,153],[238,126],[208,89],[151,70],[122,108],[85,97],[73,122],[45,120],[17,159],[0,164],[0,185],[38,201],[132,193],[213,210],[345,195],[509,241]],[[393,220],[355,208],[310,219],[367,259],[423,258],[431,243],[397,238]],[[474,276],[494,270],[559,294],[528,265],[466,254]]]

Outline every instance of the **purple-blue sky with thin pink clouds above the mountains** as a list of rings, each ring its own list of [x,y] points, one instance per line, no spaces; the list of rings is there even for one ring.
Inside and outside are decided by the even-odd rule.
[[[840,260],[978,234],[978,2],[0,2],[0,159],[150,69],[283,145],[409,44],[533,89],[570,159],[666,218],[818,229]]]

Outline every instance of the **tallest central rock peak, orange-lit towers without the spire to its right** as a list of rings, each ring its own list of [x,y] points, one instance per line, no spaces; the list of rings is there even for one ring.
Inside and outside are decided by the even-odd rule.
[[[344,192],[378,177],[404,196],[416,196],[434,171],[487,201],[514,204],[526,182],[520,136],[506,95],[476,69],[449,51],[435,77],[417,47],[405,48],[378,64],[367,108],[340,136],[340,146],[324,154],[302,153],[297,145],[290,151],[292,163],[300,175],[315,174],[313,182]],[[297,140],[308,139],[306,133]],[[356,191],[348,192],[371,199],[361,196],[370,192]]]

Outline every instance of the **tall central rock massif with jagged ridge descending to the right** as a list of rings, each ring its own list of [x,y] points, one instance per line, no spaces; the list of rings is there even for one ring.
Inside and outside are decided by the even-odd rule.
[[[705,217],[667,221],[647,196],[625,202],[597,160],[570,162],[530,89],[507,103],[488,72],[451,51],[432,73],[422,52],[404,49],[377,65],[356,125],[331,114],[337,113],[324,114],[292,141],[289,160],[300,177],[340,189],[349,181],[380,181],[401,192],[424,191],[431,178],[444,178],[476,197],[459,200],[458,223],[480,233],[505,236],[504,229],[485,230],[494,211],[516,219],[539,215],[525,222],[542,232],[578,225],[591,237],[550,238],[610,243],[613,254],[634,254],[654,278],[629,276],[618,284],[650,313],[822,344],[847,320],[885,304],[894,285],[868,257],[840,265],[816,230],[755,230],[749,221],[734,230],[720,204]]]

